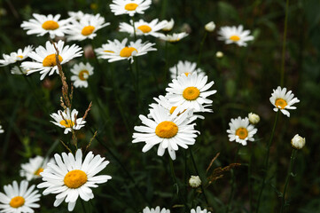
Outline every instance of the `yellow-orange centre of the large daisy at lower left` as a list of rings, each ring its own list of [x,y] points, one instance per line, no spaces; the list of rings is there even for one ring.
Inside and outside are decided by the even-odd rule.
[[[65,185],[69,188],[79,188],[80,186],[87,183],[88,177],[87,174],[82,170],[72,170],[66,173],[66,176],[63,180]]]

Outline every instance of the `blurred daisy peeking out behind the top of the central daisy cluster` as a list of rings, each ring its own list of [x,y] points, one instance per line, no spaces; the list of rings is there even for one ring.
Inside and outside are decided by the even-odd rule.
[[[176,79],[179,75],[189,75],[192,73],[198,73],[199,76],[204,76],[205,72],[201,68],[197,68],[197,63],[188,60],[179,60],[178,63],[169,69],[171,78]]]

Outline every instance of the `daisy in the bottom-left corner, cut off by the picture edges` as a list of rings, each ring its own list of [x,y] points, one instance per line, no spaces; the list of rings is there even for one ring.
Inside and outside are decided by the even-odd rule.
[[[4,185],[4,193],[0,193],[0,212],[4,213],[34,213],[34,208],[40,205],[40,193],[35,185],[27,187],[27,180],[22,180],[20,185],[13,181],[12,185]]]

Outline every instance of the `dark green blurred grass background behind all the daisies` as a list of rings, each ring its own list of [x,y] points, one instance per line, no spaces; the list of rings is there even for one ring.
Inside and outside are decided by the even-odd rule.
[[[241,146],[234,168],[236,188],[230,212],[254,212],[264,174],[263,159],[266,154],[276,113],[269,102],[273,89],[280,85],[281,54],[285,23],[285,1],[278,0],[232,0],[232,1],[187,1],[153,0],[152,6],[136,20],[175,20],[173,32],[190,33],[178,43],[165,43],[154,37],[141,37],[144,41],[157,43],[158,51],[139,57],[140,97],[142,107],[137,108],[136,94],[129,74],[127,61],[108,63],[97,61],[91,48],[98,48],[107,40],[129,37],[118,31],[119,23],[129,22],[129,16],[114,16],[110,11],[111,1],[0,1],[0,53],[10,54],[27,45],[44,45],[48,37],[27,36],[20,28],[23,20],[33,13],[61,14],[82,11],[100,13],[111,25],[98,31],[91,41],[81,45],[86,57],[75,59],[63,67],[70,83],[70,68],[74,63],[89,61],[95,67],[90,76],[89,88],[74,89],[73,106],[84,114],[90,101],[93,102],[87,124],[77,131],[79,146],[87,146],[93,133],[90,150],[105,156],[111,163],[103,173],[113,179],[94,190],[95,199],[88,204],[92,212],[142,212],[145,206],[184,212],[197,205],[211,212],[225,211],[230,195],[230,171],[215,177],[214,170],[235,162],[238,144],[229,141],[226,130],[231,118],[245,117],[254,112],[261,116],[254,143]],[[318,0],[295,0],[289,2],[288,27],[285,51],[285,84],[300,99],[290,118],[279,114],[275,138],[270,149],[270,167],[265,190],[261,198],[260,212],[277,212],[280,207],[285,176],[290,163],[290,141],[295,134],[306,138],[306,146],[298,152],[293,166],[286,199],[287,212],[320,212],[320,2]],[[142,144],[132,144],[135,125],[140,125],[138,114],[147,114],[153,97],[165,95],[169,80],[164,78],[168,67],[179,60],[197,62],[199,46],[205,34],[204,26],[215,21],[215,31],[207,34],[198,67],[215,81],[217,93],[213,99],[213,114],[203,114],[205,120],[197,122],[201,135],[191,146],[200,177],[203,180],[208,203],[200,189],[187,185],[191,175],[196,175],[189,150],[180,148],[174,162],[179,193],[183,193],[187,207],[176,193],[168,167],[168,154],[159,157],[156,148],[143,154]],[[251,30],[254,41],[247,47],[224,44],[217,40],[217,31],[223,26],[243,25]],[[68,43],[72,44],[72,43]],[[217,58],[216,51],[223,57]],[[168,60],[166,61],[166,58]],[[50,121],[56,113],[61,96],[58,75],[40,81],[40,75],[12,75],[12,67],[0,67],[0,122],[4,134],[0,134],[0,186],[22,180],[20,164],[35,155],[50,155],[66,152],[59,140],[66,144],[70,135],[56,128]],[[115,91],[114,88],[117,88]],[[122,112],[122,113],[121,113]],[[220,153],[210,170],[210,162]],[[251,159],[251,169],[249,162]],[[216,171],[216,170],[215,170]],[[251,178],[248,178],[250,174]],[[251,181],[251,186],[248,181]],[[35,180],[34,184],[40,183]],[[251,190],[250,190],[251,188]],[[251,193],[250,193],[251,192]],[[66,212],[66,204],[52,209],[54,195],[42,198],[41,209],[35,212]],[[250,201],[251,200],[251,201]],[[89,207],[90,206],[90,207]],[[75,212],[82,212],[78,201]]]

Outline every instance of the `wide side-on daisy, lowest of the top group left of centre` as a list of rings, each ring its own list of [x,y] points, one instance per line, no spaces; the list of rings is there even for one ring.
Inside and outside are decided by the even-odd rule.
[[[99,59],[108,59],[109,62],[131,59],[131,63],[134,61],[134,56],[141,56],[146,54],[148,51],[156,51],[157,49],[152,48],[155,43],[142,43],[141,39],[136,42],[130,42],[127,45],[128,38],[123,39],[122,42],[118,40],[108,41],[102,48],[96,49]]]

